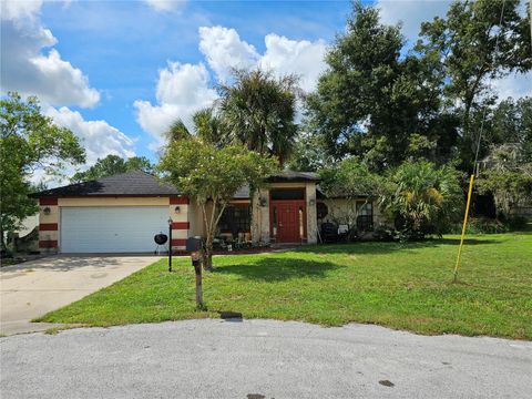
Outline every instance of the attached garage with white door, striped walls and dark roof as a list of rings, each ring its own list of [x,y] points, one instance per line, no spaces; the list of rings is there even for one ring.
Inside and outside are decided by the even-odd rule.
[[[42,254],[153,253],[153,238],[168,234],[168,221],[173,250],[183,250],[188,237],[188,197],[142,171],[44,190],[31,197],[39,201]]]

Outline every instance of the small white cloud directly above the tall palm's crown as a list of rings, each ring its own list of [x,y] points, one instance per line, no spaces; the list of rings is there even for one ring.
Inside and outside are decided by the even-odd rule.
[[[200,50],[221,81],[227,80],[233,68],[248,69],[258,61],[255,48],[241,40],[234,29],[201,27],[200,38]]]

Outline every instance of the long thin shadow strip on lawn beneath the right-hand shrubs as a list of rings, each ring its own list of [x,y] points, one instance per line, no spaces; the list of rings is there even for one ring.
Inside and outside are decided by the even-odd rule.
[[[464,241],[464,245],[493,245],[500,244],[500,239],[494,238],[470,238]],[[296,252],[315,254],[387,254],[398,250],[415,250],[438,246],[457,246],[460,238],[429,238],[420,242],[409,243],[389,243],[389,242],[356,242],[346,244],[319,244],[295,248]]]

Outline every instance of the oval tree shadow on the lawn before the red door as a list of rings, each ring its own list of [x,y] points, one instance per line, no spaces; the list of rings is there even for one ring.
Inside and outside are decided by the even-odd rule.
[[[263,282],[282,282],[300,277],[325,277],[327,272],[341,267],[344,266],[330,262],[264,257],[248,265],[217,267],[214,273],[236,274],[246,279]]]

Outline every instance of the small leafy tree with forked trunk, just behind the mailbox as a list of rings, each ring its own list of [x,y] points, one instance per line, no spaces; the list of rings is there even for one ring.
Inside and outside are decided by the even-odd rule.
[[[202,207],[206,235],[206,268],[212,267],[213,239],[219,218],[235,193],[245,184],[264,185],[277,162],[242,145],[222,149],[197,137],[172,141],[157,168],[165,180]]]

